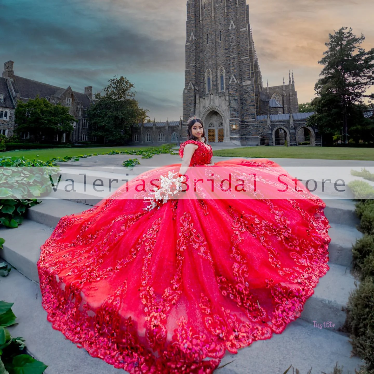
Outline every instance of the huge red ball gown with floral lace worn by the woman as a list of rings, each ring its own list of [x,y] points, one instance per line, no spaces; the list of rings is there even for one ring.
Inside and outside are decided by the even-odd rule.
[[[203,142],[181,144],[181,157],[188,143],[198,145],[196,175],[259,168],[262,192],[293,186],[266,159],[207,166],[212,148]],[[139,180],[150,186],[180,165],[147,171],[61,218],[41,248],[40,288],[53,328],[129,373],[212,373],[226,351],[281,333],[329,270],[325,203],[303,187],[305,198],[289,188],[282,199],[190,188],[187,198],[145,210],[149,202],[134,197]]]

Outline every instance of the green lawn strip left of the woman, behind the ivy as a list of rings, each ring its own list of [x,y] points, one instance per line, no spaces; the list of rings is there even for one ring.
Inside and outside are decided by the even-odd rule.
[[[47,161],[53,157],[63,158],[65,156],[79,156],[80,154],[107,153],[110,151],[125,151],[131,149],[148,149],[149,147],[97,147],[97,148],[47,148],[31,149],[27,151],[1,152],[0,157],[26,157],[27,159],[38,159]]]

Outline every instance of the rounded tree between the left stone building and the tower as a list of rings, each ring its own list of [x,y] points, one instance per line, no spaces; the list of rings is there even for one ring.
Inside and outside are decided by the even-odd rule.
[[[144,122],[147,110],[134,99],[134,85],[125,77],[110,79],[104,96],[95,93],[95,103],[87,111],[92,136],[111,144],[123,144],[131,137],[131,126]]]

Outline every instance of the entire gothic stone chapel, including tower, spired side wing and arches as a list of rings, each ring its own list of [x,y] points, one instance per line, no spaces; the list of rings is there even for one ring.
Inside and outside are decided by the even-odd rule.
[[[294,76],[263,87],[246,0],[188,0],[182,137],[196,114],[208,142],[319,145],[298,113]]]

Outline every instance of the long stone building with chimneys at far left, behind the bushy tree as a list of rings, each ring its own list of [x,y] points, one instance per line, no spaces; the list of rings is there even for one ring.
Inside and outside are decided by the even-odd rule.
[[[70,114],[76,119],[73,123],[74,131],[70,134],[70,139],[66,139],[65,134],[62,139],[55,138],[61,142],[88,141],[88,121],[85,112],[92,103],[92,86],[85,87],[85,92],[73,91],[70,86],[61,88],[51,86],[46,83],[36,82],[31,79],[14,75],[13,61],[4,64],[4,71],[0,77],[0,131],[1,134],[12,136],[16,126],[14,111],[18,100],[27,102],[35,99],[46,98],[49,102],[69,107]],[[28,138],[28,134],[22,134],[23,138]]]

